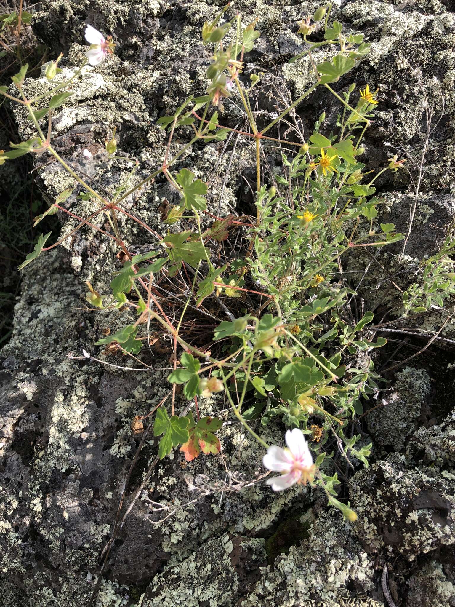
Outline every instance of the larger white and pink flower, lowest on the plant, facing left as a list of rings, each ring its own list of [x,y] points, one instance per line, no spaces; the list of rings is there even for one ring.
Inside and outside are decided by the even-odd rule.
[[[264,466],[272,472],[281,472],[281,476],[266,481],[274,491],[288,489],[295,483],[306,485],[314,476],[313,458],[302,430],[288,430],[285,439],[288,449],[273,445],[268,448],[262,460]]]

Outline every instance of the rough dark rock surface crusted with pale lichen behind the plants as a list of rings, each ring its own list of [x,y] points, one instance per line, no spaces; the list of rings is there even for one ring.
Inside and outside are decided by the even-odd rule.
[[[112,33],[118,43],[112,61],[84,68],[72,86],[72,97],[55,113],[54,142],[62,157],[96,180],[93,183],[99,188],[115,191],[126,183],[130,171],[126,163],[116,164],[104,153],[104,140],[116,126],[119,154],[127,152],[139,160],[128,183],[137,183],[157,168],[166,149],[157,118],[172,112],[187,95],[204,92],[209,55],[201,44],[200,29],[223,4],[210,0],[41,2],[33,28],[53,51],[67,53],[62,76],[74,73],[81,63],[87,21]],[[286,61],[303,49],[297,21],[317,5],[280,0],[231,2],[228,18],[241,12],[244,23],[258,19],[261,38],[249,61],[271,72],[264,77],[266,90],[275,71],[292,95],[312,83],[308,64]],[[441,87],[444,114],[431,137],[428,171],[417,206],[416,226],[423,228],[406,250],[413,257],[433,250],[434,242],[428,240],[436,215],[441,227],[453,212],[455,15],[450,10],[450,2],[437,0],[334,2],[334,18],[353,33],[364,33],[372,44],[371,54],[356,72],[337,84],[343,89],[356,80],[380,88],[380,111],[366,141],[368,169],[384,166],[393,146],[419,155],[422,95],[414,69],[420,67],[429,92],[439,90],[433,78]],[[317,60],[321,57],[322,52],[317,53]],[[44,78],[29,79],[25,90],[37,94],[47,86]],[[258,103],[266,114],[276,110],[267,100]],[[244,117],[235,99],[225,105],[226,123],[242,124]],[[435,107],[442,107],[437,94]],[[324,93],[316,92],[298,112],[309,126],[323,109],[326,121],[334,121],[339,108]],[[30,123],[20,109],[16,119],[21,137],[28,138]],[[384,141],[390,147],[384,147]],[[170,153],[184,143],[184,138],[174,143]],[[223,146],[221,142],[189,149],[178,164],[208,178],[209,204],[217,212],[248,204],[244,178],[251,177],[253,166],[248,144],[239,140],[231,164],[230,155],[222,153]],[[86,148],[91,158],[83,156]],[[271,170],[279,171],[276,151],[267,154]],[[49,202],[74,185],[73,178],[56,164],[42,168],[37,180]],[[387,193],[386,210],[406,225],[403,208],[409,208],[413,200],[407,174],[388,172],[376,185],[379,192]],[[77,193],[78,188],[66,203],[72,212],[92,212],[93,206],[76,199]],[[166,181],[158,178],[126,203],[156,227],[160,203],[172,202],[173,195]],[[62,235],[68,234],[76,220],[67,216],[61,220]],[[129,246],[140,250],[149,243],[147,234],[123,218],[121,222]],[[166,365],[161,360],[153,374],[141,374],[68,358],[70,352],[80,356],[82,348],[93,348],[105,327],[116,330],[124,323],[116,311],[89,315],[76,310],[86,291],[83,280],[106,290],[112,271],[118,269],[115,253],[109,242],[83,228],[58,252],[40,257],[26,272],[16,305],[15,331],[0,352],[0,592],[4,607],[87,603],[138,444],[130,422],[152,409],[167,392],[167,372],[159,370]],[[378,259],[389,273],[396,269],[391,253],[381,253]],[[359,259],[351,263],[355,270]],[[376,279],[381,272],[378,266]],[[392,293],[365,281],[363,295],[370,307],[375,289],[385,305],[395,302]],[[455,320],[448,328],[451,322]],[[418,398],[423,402],[422,395]],[[210,402],[204,406],[209,413]],[[215,483],[224,480],[226,470],[220,458],[186,464],[179,453],[157,468],[147,484],[150,497],[133,507],[114,544],[97,605],[379,607],[385,604],[380,583],[384,563],[395,564],[389,586],[392,593],[393,585],[399,588],[405,607],[453,604],[453,553],[445,550],[455,542],[453,413],[413,433],[417,417],[416,409],[412,423],[400,420],[406,433],[412,434],[405,455],[390,455],[352,478],[349,499],[359,512],[352,526],[343,523],[338,512],[321,510],[311,495],[298,488],[273,495],[263,484],[255,484],[243,493],[224,495],[221,506],[218,496],[185,506],[192,496],[184,477]],[[375,432],[372,426],[372,441]],[[383,441],[380,436],[383,433],[378,430],[378,444]],[[258,447],[242,438],[236,426],[224,426],[220,438],[231,465],[245,478],[254,478],[260,461]],[[397,438],[387,446],[398,450],[403,444]],[[155,453],[153,441],[144,447],[127,502]],[[152,512],[151,501],[176,512],[164,523],[152,524],[164,517]],[[288,512],[310,507],[315,520],[308,538],[297,541],[273,565],[267,564],[265,539],[274,532],[274,525]]]

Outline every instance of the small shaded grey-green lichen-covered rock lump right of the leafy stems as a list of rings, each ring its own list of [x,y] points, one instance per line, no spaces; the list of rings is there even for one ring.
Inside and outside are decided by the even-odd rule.
[[[425,369],[405,367],[397,373],[391,392],[381,399],[382,406],[368,414],[368,430],[375,444],[402,449],[416,427],[429,392],[430,376]]]

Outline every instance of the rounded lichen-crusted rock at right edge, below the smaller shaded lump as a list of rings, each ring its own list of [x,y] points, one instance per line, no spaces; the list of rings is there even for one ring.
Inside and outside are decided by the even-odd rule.
[[[352,476],[359,515],[354,533],[374,554],[386,548],[408,560],[455,544],[455,483],[431,468],[406,467],[397,453]]]

